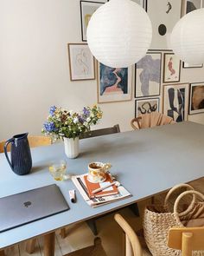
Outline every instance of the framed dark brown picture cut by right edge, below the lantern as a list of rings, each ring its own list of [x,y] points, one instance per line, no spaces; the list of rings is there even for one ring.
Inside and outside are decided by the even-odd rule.
[[[204,112],[204,82],[191,83],[189,115]]]

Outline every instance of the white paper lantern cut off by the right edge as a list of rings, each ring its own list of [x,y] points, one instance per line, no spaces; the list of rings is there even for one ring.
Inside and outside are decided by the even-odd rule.
[[[204,9],[189,12],[175,24],[171,47],[183,62],[204,62]]]

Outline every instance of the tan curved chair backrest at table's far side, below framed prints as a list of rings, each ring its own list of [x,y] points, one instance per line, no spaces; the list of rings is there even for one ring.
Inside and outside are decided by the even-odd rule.
[[[162,113],[151,112],[150,114],[140,115],[131,120],[131,127],[133,129],[152,128],[156,126],[173,124],[175,121]]]

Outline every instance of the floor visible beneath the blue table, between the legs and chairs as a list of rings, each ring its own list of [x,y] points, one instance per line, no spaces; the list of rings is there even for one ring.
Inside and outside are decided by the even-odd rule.
[[[198,191],[204,193],[204,178],[199,181],[194,181],[191,185]],[[164,195],[156,196],[156,201],[163,201]],[[139,202],[140,213],[143,213],[143,209],[146,205],[150,204],[150,200],[143,200]],[[142,228],[142,214],[141,218],[137,218],[130,209],[123,209],[119,211],[123,216],[131,223],[131,226],[135,231]],[[114,214],[109,214],[103,218],[97,220],[97,226],[99,230],[99,237],[102,240],[102,246],[105,249],[105,253],[109,256],[122,256],[122,232],[116,222],[113,220]],[[55,236],[55,256],[62,256],[67,253],[73,252],[80,248],[91,246],[93,244],[94,236],[86,226],[86,223],[80,223],[74,226],[67,227],[67,237],[61,239],[60,232]],[[35,253],[33,256],[43,255],[42,239],[38,239],[35,246]],[[29,256],[29,253],[25,251],[25,243],[21,243],[18,246],[12,246],[5,250],[6,256]],[[98,256],[100,254],[97,254]]]

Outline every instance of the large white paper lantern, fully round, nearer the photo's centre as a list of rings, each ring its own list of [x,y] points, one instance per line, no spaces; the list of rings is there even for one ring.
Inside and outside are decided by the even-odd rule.
[[[152,27],[143,8],[130,0],[111,0],[96,10],[87,27],[92,55],[106,66],[125,68],[150,48]]]

